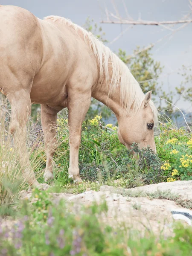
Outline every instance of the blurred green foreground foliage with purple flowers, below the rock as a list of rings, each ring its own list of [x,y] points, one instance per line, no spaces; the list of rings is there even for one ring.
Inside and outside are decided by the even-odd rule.
[[[128,255],[191,255],[192,228],[177,223],[173,236],[156,237],[153,233],[141,236],[137,228],[126,228],[116,222],[113,227],[103,223],[101,216],[108,212],[105,201],[81,207],[76,214],[70,204],[60,201],[47,204],[46,218],[38,218],[34,212],[44,212],[41,201],[50,201],[47,192],[34,191],[39,204],[21,206],[14,225],[2,226],[0,221],[1,255],[20,256],[128,256]],[[38,196],[37,196],[38,195]],[[140,210],[140,205],[133,204]]]

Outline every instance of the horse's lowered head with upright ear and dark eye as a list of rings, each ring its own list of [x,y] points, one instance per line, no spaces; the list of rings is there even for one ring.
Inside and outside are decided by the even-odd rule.
[[[118,137],[120,142],[128,149],[133,143],[138,143],[140,148],[148,145],[156,151],[154,142],[155,114],[150,105],[151,92],[146,93],[145,98],[137,114],[129,113],[128,116],[118,118]]]

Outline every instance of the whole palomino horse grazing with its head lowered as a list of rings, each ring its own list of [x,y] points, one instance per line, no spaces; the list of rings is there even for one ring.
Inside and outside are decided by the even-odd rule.
[[[20,165],[29,185],[38,186],[26,148],[26,122],[32,103],[41,104],[47,164],[53,177],[55,122],[69,110],[69,174],[79,177],[81,124],[91,97],[107,105],[118,120],[118,136],[127,148],[139,143],[155,151],[157,110],[151,91],[143,94],[128,67],[96,37],[58,16],[41,20],[16,6],[0,6],[0,88],[12,107],[10,131],[19,146]]]

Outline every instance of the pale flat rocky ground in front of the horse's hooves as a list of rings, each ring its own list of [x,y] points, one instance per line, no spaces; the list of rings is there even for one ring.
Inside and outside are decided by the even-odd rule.
[[[30,198],[31,194],[23,192],[22,197]],[[177,219],[186,225],[192,225],[192,180],[133,189],[116,189],[105,185],[100,187],[99,192],[86,191],[78,195],[52,193],[52,198],[55,203],[64,199],[77,213],[82,205],[89,206],[94,201],[101,203],[105,200],[108,213],[101,216],[102,221],[112,225],[126,225],[141,232],[163,232],[165,236],[169,236],[172,234],[172,224]]]

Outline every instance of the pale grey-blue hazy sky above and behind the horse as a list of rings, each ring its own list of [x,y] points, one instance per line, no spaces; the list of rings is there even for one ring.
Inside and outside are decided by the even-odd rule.
[[[179,20],[189,13],[188,0],[124,0],[129,15],[138,19],[140,13],[143,20]],[[126,17],[122,0],[114,0],[119,14]],[[111,0],[0,0],[3,5],[16,5],[28,9],[35,16],[43,18],[48,15],[59,15],[70,18],[74,23],[83,25],[88,16],[96,23],[105,19],[105,8],[114,12]],[[191,10],[192,12],[192,10]],[[126,29],[126,25],[101,24],[106,32],[106,39],[111,42],[119,33]],[[179,25],[181,26],[181,25]],[[179,27],[174,26],[172,29]],[[178,69],[184,64],[192,65],[192,23],[185,26],[178,32],[160,26],[134,26],[125,34],[108,46],[115,52],[119,48],[131,54],[137,45],[140,47],[156,43],[152,52],[154,59],[160,61],[164,66],[163,74],[159,78],[159,83],[163,81],[163,86],[169,93],[175,86],[179,86],[181,77],[177,75]],[[172,34],[172,35],[171,35]],[[171,73],[168,75],[168,73]],[[169,86],[169,88],[168,88]],[[178,103],[179,107],[189,109],[189,105],[184,105],[183,101]]]

